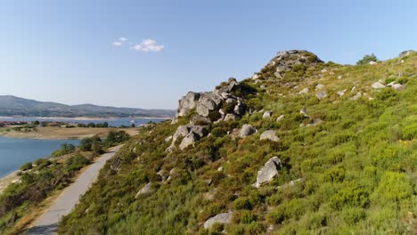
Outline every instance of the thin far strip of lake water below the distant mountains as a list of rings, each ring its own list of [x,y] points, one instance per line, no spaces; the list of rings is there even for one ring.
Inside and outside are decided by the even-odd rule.
[[[109,123],[109,126],[131,126],[131,118],[98,118],[98,119],[88,119],[88,120],[79,120],[76,118],[24,118],[24,117],[0,117],[0,121],[20,121],[20,122],[32,122],[32,121],[57,121],[57,122],[70,122],[70,123]],[[139,126],[141,124],[146,124],[148,122],[160,122],[164,119],[160,118],[135,118],[135,125]]]

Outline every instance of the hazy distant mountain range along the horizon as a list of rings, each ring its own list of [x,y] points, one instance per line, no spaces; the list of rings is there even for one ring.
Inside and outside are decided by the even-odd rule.
[[[135,109],[98,106],[94,104],[66,105],[56,102],[43,102],[28,100],[12,95],[0,95],[0,116],[26,116],[26,117],[98,117],[125,118],[152,117],[169,118],[175,115],[170,109]]]

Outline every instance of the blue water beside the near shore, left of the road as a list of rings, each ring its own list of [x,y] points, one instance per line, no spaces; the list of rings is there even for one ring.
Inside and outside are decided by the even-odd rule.
[[[49,157],[54,150],[61,148],[62,143],[78,145],[79,140],[13,139],[0,136],[0,178],[18,170],[26,162]]]

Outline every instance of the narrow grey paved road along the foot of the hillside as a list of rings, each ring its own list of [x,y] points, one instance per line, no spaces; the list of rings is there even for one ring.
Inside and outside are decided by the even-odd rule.
[[[86,171],[79,175],[76,182],[72,183],[70,187],[64,190],[60,197],[56,199],[53,206],[37,220],[35,223],[36,225],[29,229],[28,234],[56,234],[61,216],[70,214],[72,208],[78,203],[78,199],[86,193],[86,190],[88,190],[91,184],[96,180],[102,166],[104,166],[108,159],[114,156],[120,147],[121,146],[112,148],[110,152],[103,154],[100,158],[96,158],[92,165],[87,166]]]

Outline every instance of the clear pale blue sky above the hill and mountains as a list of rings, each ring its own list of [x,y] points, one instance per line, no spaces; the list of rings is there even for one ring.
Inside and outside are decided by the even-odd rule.
[[[2,1],[0,94],[176,109],[187,91],[249,77],[283,50],[355,63],[417,49],[416,9],[415,1]]]

